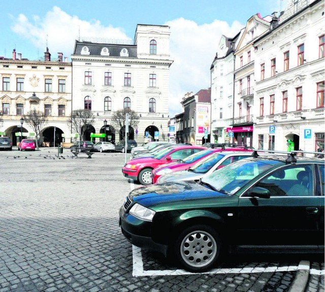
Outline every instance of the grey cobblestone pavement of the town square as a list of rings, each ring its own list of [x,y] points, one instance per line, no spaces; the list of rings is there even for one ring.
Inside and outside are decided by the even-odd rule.
[[[301,259],[307,283],[295,290],[324,290],[319,256],[231,256],[210,273],[190,274],[132,247],[118,226],[133,186],[121,173],[124,155],[56,155],[0,152],[0,291],[281,292],[297,286]]]

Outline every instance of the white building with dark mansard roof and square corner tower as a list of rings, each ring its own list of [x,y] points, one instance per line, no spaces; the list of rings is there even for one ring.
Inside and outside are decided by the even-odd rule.
[[[104,133],[107,120],[108,140],[124,139],[111,116],[130,108],[140,122],[136,129],[129,129],[129,139],[142,143],[158,132],[159,140],[168,140],[169,68],[173,63],[169,38],[169,26],[138,24],[134,44],[76,41],[72,109],[93,111],[93,133]]]

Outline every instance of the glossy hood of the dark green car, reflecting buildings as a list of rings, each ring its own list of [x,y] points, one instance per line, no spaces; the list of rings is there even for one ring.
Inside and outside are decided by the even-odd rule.
[[[216,196],[224,197],[229,195],[213,191],[193,181],[149,185],[129,193],[129,198],[145,207]]]

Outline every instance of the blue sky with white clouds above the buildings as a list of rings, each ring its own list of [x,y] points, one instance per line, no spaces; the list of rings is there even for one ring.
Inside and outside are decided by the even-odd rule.
[[[254,14],[284,9],[285,0],[2,0],[0,56],[39,60],[49,48],[71,61],[75,40],[134,41],[137,24],[170,26],[170,117],[186,93],[211,86],[221,35],[234,37]]]

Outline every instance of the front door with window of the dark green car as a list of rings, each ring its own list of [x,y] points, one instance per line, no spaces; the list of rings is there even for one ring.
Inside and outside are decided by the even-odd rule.
[[[309,175],[304,179],[306,187],[299,180],[300,172]],[[321,215],[314,172],[312,164],[287,165],[243,193],[239,198],[237,244],[317,248]],[[252,197],[254,187],[268,189],[270,198]]]

